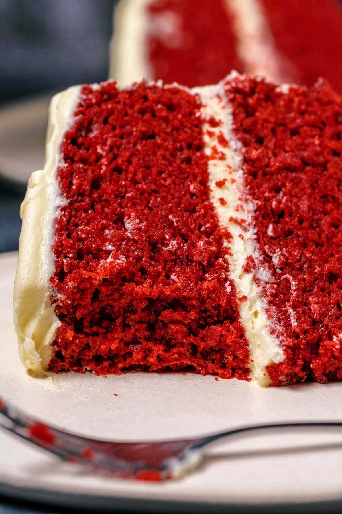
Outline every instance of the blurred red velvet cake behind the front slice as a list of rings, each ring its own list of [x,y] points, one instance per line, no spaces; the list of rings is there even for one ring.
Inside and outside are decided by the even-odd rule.
[[[114,17],[110,77],[189,87],[231,69],[275,82],[327,79],[342,93],[338,0],[122,0]]]

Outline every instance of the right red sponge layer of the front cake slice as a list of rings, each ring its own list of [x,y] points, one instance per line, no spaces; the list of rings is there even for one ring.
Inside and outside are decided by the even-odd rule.
[[[226,83],[257,244],[272,275],[264,295],[287,359],[273,384],[342,378],[342,98],[331,87],[251,78]]]

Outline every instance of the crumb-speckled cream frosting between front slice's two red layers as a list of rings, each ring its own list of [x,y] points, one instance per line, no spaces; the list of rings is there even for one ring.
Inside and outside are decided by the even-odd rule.
[[[251,378],[257,380],[261,386],[268,386],[270,378],[266,366],[284,360],[285,356],[278,341],[270,333],[270,320],[266,314],[267,305],[261,295],[260,287],[254,281],[254,272],[244,271],[246,260],[251,256],[257,264],[257,273],[261,284],[267,283],[271,277],[268,269],[260,266],[255,248],[252,225],[253,205],[246,204],[242,200],[242,156],[232,133],[232,113],[230,107],[223,100],[225,96],[222,86],[197,88],[195,91],[199,93],[204,105],[204,119],[213,116],[222,122],[217,127],[212,127],[210,123],[206,122],[203,126],[206,154],[210,156],[213,147],[216,146],[224,156],[224,160],[213,158],[209,160],[210,199],[220,225],[226,227],[232,235],[232,241],[229,244],[226,243],[229,250],[226,255],[230,269],[229,278],[235,284],[237,299],[247,297],[247,300],[243,302],[238,301],[238,309],[249,342]],[[209,136],[206,131],[214,134]],[[228,146],[219,145],[217,136],[220,133],[228,141]],[[216,186],[216,181],[225,179],[223,187]],[[222,205],[220,198],[227,202],[226,205]],[[244,223],[245,230],[238,223],[241,220],[247,222]]]

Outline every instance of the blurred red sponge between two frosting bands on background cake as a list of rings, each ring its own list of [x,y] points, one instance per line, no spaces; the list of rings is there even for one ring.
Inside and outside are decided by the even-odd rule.
[[[243,71],[236,54],[233,17],[224,2],[152,0],[147,9],[152,27],[147,48],[154,79],[195,87],[215,84],[231,69]],[[168,19],[175,25],[170,34],[163,28]]]

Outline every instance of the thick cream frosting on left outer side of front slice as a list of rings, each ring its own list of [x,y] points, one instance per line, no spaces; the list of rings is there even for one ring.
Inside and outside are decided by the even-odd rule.
[[[31,175],[21,206],[23,220],[13,295],[13,320],[20,358],[36,375],[46,374],[58,321],[50,301],[55,272],[52,244],[54,220],[64,204],[56,180],[59,146],[73,121],[81,87],[52,98],[44,169]]]

